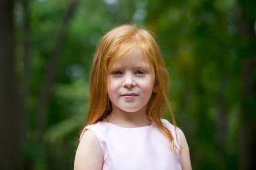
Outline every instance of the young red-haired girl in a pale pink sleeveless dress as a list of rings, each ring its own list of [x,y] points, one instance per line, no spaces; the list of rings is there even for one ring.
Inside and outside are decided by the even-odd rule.
[[[176,127],[168,72],[154,37],[134,25],[106,33],[90,73],[89,110],[75,170],[190,170]],[[167,104],[172,122],[160,119]]]

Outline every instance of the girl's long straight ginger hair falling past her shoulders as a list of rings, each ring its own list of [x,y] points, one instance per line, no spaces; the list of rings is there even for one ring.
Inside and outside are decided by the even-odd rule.
[[[102,37],[97,45],[90,71],[89,109],[84,127],[102,121],[111,113],[112,105],[107,93],[107,78],[108,67],[113,62],[109,61],[128,56],[135,48],[140,48],[143,51],[143,57],[153,65],[155,85],[158,86],[157,93],[152,93],[148,101],[146,114],[157,129],[169,138],[171,148],[175,150],[178,147],[175,145],[174,137],[160,120],[160,117],[163,117],[166,112],[167,105],[177,139],[175,117],[167,97],[169,74],[153,35],[145,28],[137,28],[133,24],[113,28]]]

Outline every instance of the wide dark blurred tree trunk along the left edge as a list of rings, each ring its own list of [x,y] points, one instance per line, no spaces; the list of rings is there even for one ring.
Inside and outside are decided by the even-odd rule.
[[[13,1],[0,1],[0,169],[17,170],[20,153],[20,110],[15,82]]]

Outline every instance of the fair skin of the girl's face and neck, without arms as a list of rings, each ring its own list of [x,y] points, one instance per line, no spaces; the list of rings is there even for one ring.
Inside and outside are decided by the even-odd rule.
[[[146,108],[152,92],[157,92],[154,81],[154,68],[144,60],[139,48],[127,57],[116,60],[108,68],[108,96],[113,107],[108,121],[121,127],[149,125]],[[137,96],[132,99],[122,96],[131,93]]]

